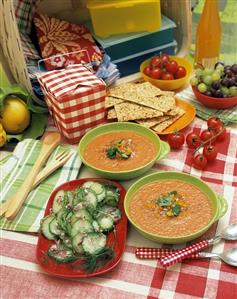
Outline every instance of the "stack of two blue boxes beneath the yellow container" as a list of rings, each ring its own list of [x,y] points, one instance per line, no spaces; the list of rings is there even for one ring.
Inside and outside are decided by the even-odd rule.
[[[86,26],[96,41],[104,48],[120,71],[121,77],[139,72],[140,64],[160,52],[173,55],[177,46],[174,39],[175,23],[162,16],[161,27],[154,32],[136,32],[112,35],[107,38],[96,36],[90,22]]]

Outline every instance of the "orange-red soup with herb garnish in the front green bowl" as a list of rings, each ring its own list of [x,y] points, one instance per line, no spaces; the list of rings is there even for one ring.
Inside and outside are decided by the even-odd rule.
[[[162,180],[147,184],[134,194],[129,214],[148,233],[182,237],[205,227],[213,217],[213,206],[194,185]]]

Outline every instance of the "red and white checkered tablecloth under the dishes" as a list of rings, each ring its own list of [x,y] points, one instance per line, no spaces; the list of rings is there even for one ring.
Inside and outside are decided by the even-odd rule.
[[[193,128],[200,131],[205,126],[204,122],[195,119],[185,133]],[[52,129],[49,127],[48,130]],[[217,147],[217,161],[208,165],[205,171],[191,167],[191,152],[186,146],[171,151],[151,170],[190,173],[206,181],[226,198],[227,213],[200,239],[213,236],[229,223],[237,222],[237,130],[228,129],[227,140]],[[86,169],[80,173],[80,178],[92,176]],[[128,188],[133,182],[124,186]],[[90,279],[69,280],[47,275],[37,265],[36,244],[37,236],[1,232],[1,298],[232,299],[237,296],[237,268],[220,260],[189,260],[164,269],[156,260],[137,259],[134,255],[137,246],[156,247],[161,244],[145,239],[130,225],[121,262],[110,272]],[[222,252],[236,246],[237,241],[222,240],[209,250]]]

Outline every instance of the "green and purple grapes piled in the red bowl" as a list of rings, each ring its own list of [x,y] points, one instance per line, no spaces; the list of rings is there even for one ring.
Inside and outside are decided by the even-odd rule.
[[[190,83],[209,97],[237,96],[237,64],[225,65],[217,62],[214,69],[197,69]]]

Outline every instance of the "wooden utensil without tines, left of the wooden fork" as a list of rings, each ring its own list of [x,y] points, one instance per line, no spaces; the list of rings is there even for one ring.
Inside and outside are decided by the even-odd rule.
[[[18,189],[15,195],[10,198],[11,204],[8,206],[5,217],[7,219],[13,219],[19,212],[20,208],[22,207],[27,195],[31,191],[32,185],[35,181],[35,178],[39,171],[41,170],[43,164],[48,159],[49,155],[52,151],[58,146],[60,143],[61,136],[59,133],[50,133],[48,134],[45,139],[43,140],[42,149],[40,154],[31,169],[30,173],[26,177],[24,183]]]

